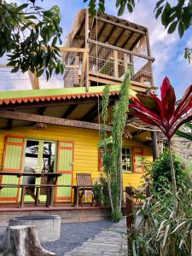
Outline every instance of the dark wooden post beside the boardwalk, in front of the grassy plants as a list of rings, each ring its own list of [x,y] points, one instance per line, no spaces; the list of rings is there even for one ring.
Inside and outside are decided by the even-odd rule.
[[[126,228],[127,228],[127,249],[128,249],[128,255],[133,255],[132,254],[132,226],[134,224],[134,218],[133,218],[133,191],[131,187],[125,187],[125,194],[128,195],[126,196]],[[131,197],[131,198],[130,198]],[[132,200],[131,200],[132,199]]]

